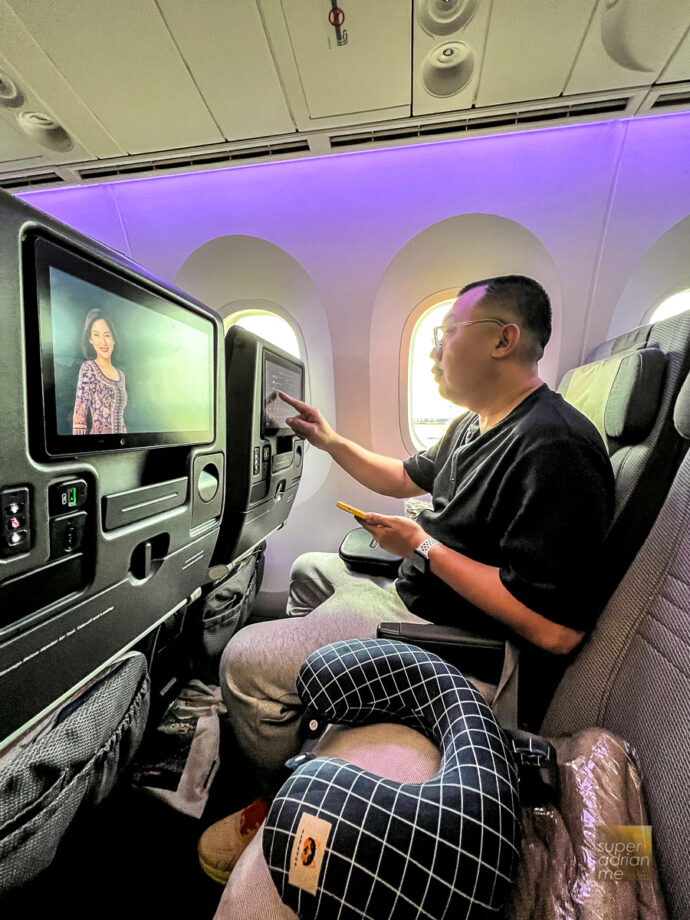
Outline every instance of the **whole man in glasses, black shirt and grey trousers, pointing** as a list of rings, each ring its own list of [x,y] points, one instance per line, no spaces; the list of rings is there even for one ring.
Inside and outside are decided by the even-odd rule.
[[[293,567],[288,619],[246,627],[228,644],[224,698],[264,777],[294,752],[297,671],[321,645],[373,636],[382,620],[413,620],[491,625],[551,657],[591,628],[613,474],[591,422],[539,379],[550,331],[548,297],[528,278],[463,288],[436,330],[433,372],[441,394],[474,414],[404,462],[341,437],[317,409],[283,396],[298,412],[288,419],[294,431],[360,483],[399,498],[430,492],[433,509],[417,521],[366,515],[363,526],[403,557],[394,586],[348,573],[335,554],[306,554]]]

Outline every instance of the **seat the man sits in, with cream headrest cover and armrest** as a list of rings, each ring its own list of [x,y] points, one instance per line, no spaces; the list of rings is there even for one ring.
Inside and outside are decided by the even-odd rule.
[[[614,468],[616,501],[603,551],[601,607],[649,533],[687,450],[673,424],[673,406],[689,369],[686,312],[602,343],[585,364],[568,371],[559,386],[564,398],[597,426]],[[435,624],[382,623],[377,634],[421,645],[468,673],[476,673],[479,663],[482,673],[477,676],[499,682],[505,659],[500,638]],[[558,673],[554,686],[557,677]],[[538,724],[540,713],[516,714],[516,682],[511,690],[512,695],[504,697],[501,718],[506,724]]]

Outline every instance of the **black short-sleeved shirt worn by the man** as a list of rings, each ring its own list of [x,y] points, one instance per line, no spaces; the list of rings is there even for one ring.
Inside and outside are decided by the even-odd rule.
[[[497,567],[503,585],[530,610],[572,629],[591,629],[601,606],[601,546],[614,479],[586,416],[543,384],[484,434],[476,415],[464,416],[404,465],[432,495],[433,509],[418,519],[430,536]],[[396,588],[413,613],[434,623],[507,631],[409,560]]]

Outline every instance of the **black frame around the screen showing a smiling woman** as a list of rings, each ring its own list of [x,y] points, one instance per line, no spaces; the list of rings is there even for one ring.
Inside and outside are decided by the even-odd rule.
[[[107,263],[95,253],[78,253],[42,233],[28,236],[25,246],[27,258],[24,260],[24,299],[28,309],[33,310],[35,320],[35,324],[27,323],[29,335],[35,339],[27,343],[27,350],[37,356],[38,361],[35,367],[40,368],[40,387],[38,389],[41,393],[45,453],[49,457],[74,457],[142,448],[212,443],[215,440],[217,400],[215,386],[217,330],[212,317],[204,316],[201,311],[196,312],[189,304],[177,299],[172,292],[152,290],[146,286],[144,278],[136,277],[135,280],[133,277],[128,277],[121,266]],[[145,309],[161,313],[169,319],[210,334],[212,360],[208,368],[210,402],[207,426],[186,431],[127,432],[105,435],[62,435],[58,433],[50,293],[50,270],[52,268]],[[35,389],[35,386],[32,389]]]

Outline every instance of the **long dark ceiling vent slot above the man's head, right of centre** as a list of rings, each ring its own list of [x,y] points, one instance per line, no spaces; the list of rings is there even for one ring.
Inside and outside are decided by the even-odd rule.
[[[377,144],[414,138],[442,137],[444,134],[469,134],[473,131],[488,131],[496,128],[511,129],[528,124],[548,124],[551,121],[581,120],[596,116],[623,115],[630,102],[629,96],[616,99],[589,100],[587,102],[552,105],[539,109],[518,109],[515,111],[494,111],[482,115],[473,110],[463,118],[454,121],[418,121],[391,127],[375,127],[366,131],[331,135],[331,147],[354,147],[362,144]]]

